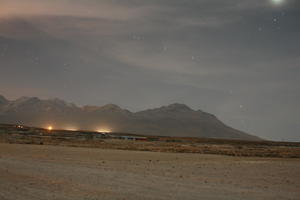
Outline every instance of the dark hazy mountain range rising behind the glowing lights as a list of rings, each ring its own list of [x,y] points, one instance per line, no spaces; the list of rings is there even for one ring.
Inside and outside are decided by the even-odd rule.
[[[145,135],[260,140],[226,126],[212,114],[192,110],[184,104],[133,113],[114,104],[77,107],[59,99],[21,97],[9,101],[0,96],[0,123],[52,125],[61,129],[108,129]]]

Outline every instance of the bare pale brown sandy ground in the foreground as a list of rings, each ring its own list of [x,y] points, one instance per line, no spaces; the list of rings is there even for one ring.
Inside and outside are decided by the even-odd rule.
[[[0,144],[1,200],[300,199],[300,159]]]

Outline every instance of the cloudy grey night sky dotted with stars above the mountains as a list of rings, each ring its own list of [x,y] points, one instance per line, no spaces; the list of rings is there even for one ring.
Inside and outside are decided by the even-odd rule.
[[[0,94],[174,102],[300,141],[299,0],[0,0]]]

